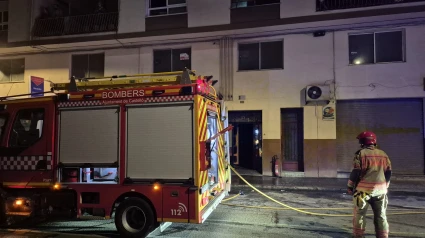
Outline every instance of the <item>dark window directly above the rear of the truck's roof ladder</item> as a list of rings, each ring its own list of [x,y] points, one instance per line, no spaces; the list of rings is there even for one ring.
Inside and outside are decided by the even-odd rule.
[[[191,68],[191,49],[154,50],[154,73],[182,71]]]

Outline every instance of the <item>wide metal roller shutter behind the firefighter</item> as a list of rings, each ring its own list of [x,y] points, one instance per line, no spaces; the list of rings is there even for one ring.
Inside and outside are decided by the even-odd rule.
[[[350,172],[356,136],[376,133],[378,147],[390,157],[396,174],[424,174],[422,99],[338,101],[336,106],[338,172]]]

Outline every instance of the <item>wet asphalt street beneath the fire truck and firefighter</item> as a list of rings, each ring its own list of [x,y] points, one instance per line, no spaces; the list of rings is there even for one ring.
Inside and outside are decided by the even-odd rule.
[[[174,223],[163,233],[157,230],[149,237],[350,237],[351,197],[341,192],[264,191],[278,201],[296,208],[309,209],[306,211],[316,213],[347,215],[343,217],[306,215],[288,210],[255,191],[246,189],[242,192],[244,195],[223,202],[204,224]],[[230,198],[234,195],[231,194]],[[390,237],[425,237],[425,194],[390,193],[389,201]],[[422,213],[409,214],[420,212]],[[369,217],[367,237],[374,237],[373,231],[373,220]],[[102,220],[44,222],[24,229],[0,230],[0,237],[119,235],[115,231],[113,220]]]

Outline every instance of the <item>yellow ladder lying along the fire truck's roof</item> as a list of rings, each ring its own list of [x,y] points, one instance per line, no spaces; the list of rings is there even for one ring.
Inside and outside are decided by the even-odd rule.
[[[209,81],[212,76],[206,76]],[[167,86],[186,85],[195,83],[198,77],[194,71],[186,69],[183,71],[134,74],[134,75],[113,75],[105,77],[91,78],[71,78],[69,83],[51,83],[52,92],[66,90],[67,92],[78,92],[88,90],[106,90],[137,86]],[[77,80],[79,82],[77,82]]]

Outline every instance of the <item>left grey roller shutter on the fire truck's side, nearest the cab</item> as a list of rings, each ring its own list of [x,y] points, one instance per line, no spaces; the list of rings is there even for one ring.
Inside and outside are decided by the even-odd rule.
[[[119,108],[60,111],[59,161],[114,163],[118,161]]]

